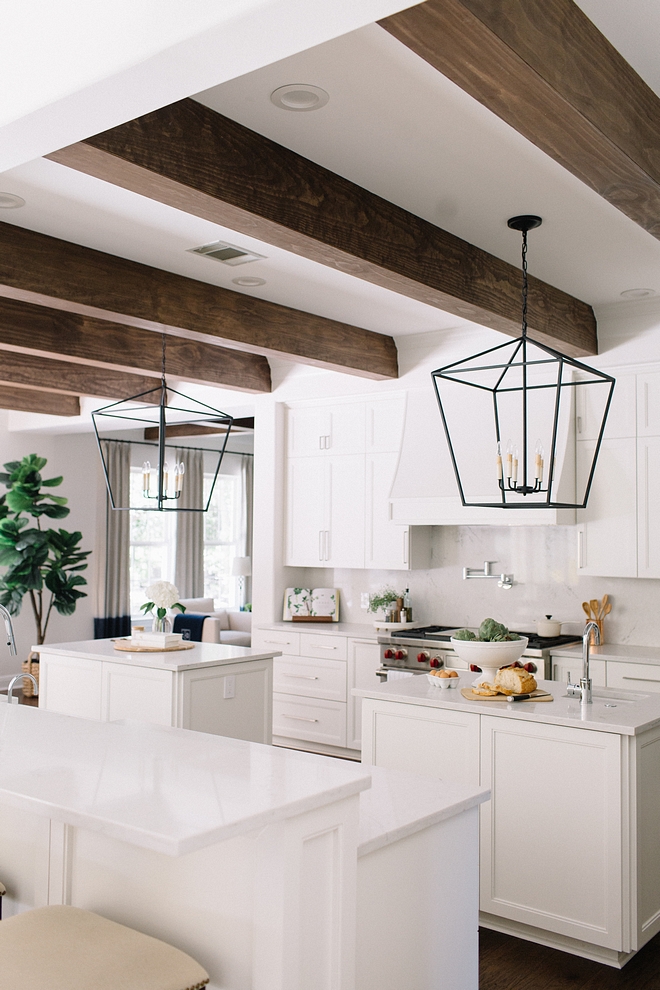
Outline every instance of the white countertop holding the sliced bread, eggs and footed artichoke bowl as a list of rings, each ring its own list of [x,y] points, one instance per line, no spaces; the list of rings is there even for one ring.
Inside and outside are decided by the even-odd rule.
[[[428,705],[431,708],[547,722],[551,725],[570,725],[627,736],[638,735],[660,725],[658,694],[623,691],[618,688],[594,688],[592,704],[582,705],[577,698],[566,696],[566,685],[560,681],[539,681],[539,687],[549,691],[554,697],[553,701],[467,701],[460,688],[470,687],[474,676],[471,673],[461,674],[458,678],[459,686],[450,690],[433,686],[425,675],[420,674],[373,688],[354,688],[353,694],[358,698]]]

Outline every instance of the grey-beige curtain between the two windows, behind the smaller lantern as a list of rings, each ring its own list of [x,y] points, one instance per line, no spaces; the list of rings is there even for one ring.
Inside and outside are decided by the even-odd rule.
[[[204,507],[204,454],[201,450],[177,448],[174,455],[186,472],[178,508]],[[204,513],[179,512],[176,517],[174,583],[181,598],[204,596]]]

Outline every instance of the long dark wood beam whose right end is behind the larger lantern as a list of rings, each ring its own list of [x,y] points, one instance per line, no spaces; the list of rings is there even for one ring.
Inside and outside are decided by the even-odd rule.
[[[511,336],[520,271],[194,100],[49,156],[176,209]],[[530,279],[532,335],[597,350],[591,307]]]

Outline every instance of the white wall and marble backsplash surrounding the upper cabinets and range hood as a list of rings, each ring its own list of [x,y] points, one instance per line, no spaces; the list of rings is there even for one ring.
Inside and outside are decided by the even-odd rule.
[[[597,315],[601,353],[587,359],[588,363],[604,369],[649,364],[660,367],[660,300],[618,304],[604,308]],[[437,334],[399,338],[401,376],[393,382],[365,382],[349,375],[302,371],[284,364],[275,369],[275,391],[272,396],[259,399],[257,422],[255,497],[260,506],[261,524],[259,529],[255,528],[256,621],[281,618],[283,589],[296,584],[338,587],[340,618],[368,622],[371,617],[360,608],[360,593],[387,584],[398,589],[410,588],[415,619],[420,623],[475,625],[492,615],[513,628],[533,629],[537,618],[552,614],[573,622],[573,627],[567,627],[566,631],[577,632],[583,624],[581,603],[608,593],[613,601],[606,623],[608,641],[657,645],[660,581],[578,576],[577,538],[572,526],[433,527],[431,568],[410,573],[306,571],[281,566],[283,480],[277,453],[284,441],[281,411],[277,430],[267,426],[275,422],[276,403],[314,396],[383,393],[425,384],[430,388],[433,369],[501,340],[494,331],[472,324]],[[268,433],[267,455],[260,453],[261,425]],[[259,512],[255,515],[258,518]],[[267,580],[261,567],[264,552],[269,556]],[[510,591],[499,589],[496,581],[462,580],[463,567],[482,567],[485,560],[497,561],[494,570],[513,573],[515,584]]]

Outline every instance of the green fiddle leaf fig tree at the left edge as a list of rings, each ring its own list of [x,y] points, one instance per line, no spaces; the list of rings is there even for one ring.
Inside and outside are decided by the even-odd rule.
[[[0,472],[0,483],[7,487],[0,496],[0,566],[7,568],[0,577],[0,604],[18,615],[29,596],[39,645],[52,610],[72,615],[78,599],[86,597],[80,571],[91,553],[80,549],[82,533],[42,526],[43,517],[64,519],[71,511],[67,499],[50,493],[62,478],[42,478],[45,465],[45,457],[29,454],[9,461]]]

